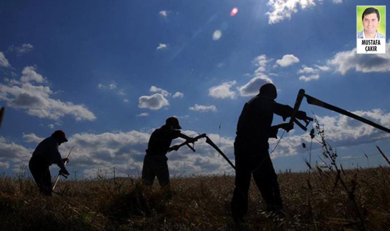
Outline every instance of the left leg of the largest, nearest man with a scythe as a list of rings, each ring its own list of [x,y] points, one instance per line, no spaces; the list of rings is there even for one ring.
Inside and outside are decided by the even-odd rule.
[[[248,191],[250,171],[245,163],[236,156],[236,179],[233,198],[231,199],[231,216],[236,223],[241,223],[248,211]]]

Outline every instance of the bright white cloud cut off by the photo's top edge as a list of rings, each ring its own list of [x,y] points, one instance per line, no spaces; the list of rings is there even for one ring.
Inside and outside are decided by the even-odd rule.
[[[291,14],[298,12],[298,7],[306,9],[316,6],[316,3],[314,0],[269,0],[267,5],[271,7],[271,11],[265,13],[268,15],[268,24],[275,24],[291,18]]]

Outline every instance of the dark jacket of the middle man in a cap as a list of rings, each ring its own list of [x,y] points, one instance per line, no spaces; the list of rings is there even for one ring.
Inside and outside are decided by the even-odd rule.
[[[155,129],[149,139],[147,155],[166,155],[173,139],[179,138],[179,130],[171,129],[167,125]]]

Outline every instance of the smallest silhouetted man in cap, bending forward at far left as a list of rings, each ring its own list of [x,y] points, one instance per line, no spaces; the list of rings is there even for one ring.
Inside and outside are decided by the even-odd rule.
[[[56,130],[49,138],[46,138],[36,146],[29,162],[31,174],[43,195],[51,196],[52,185],[49,166],[56,164],[60,167],[60,174],[69,175],[65,168],[58,146],[68,142],[63,130]]]

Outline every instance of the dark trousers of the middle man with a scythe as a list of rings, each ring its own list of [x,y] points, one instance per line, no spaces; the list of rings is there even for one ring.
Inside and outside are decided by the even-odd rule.
[[[154,178],[157,177],[162,188],[170,189],[168,158],[163,155],[145,155],[142,167],[142,181],[152,186]]]

